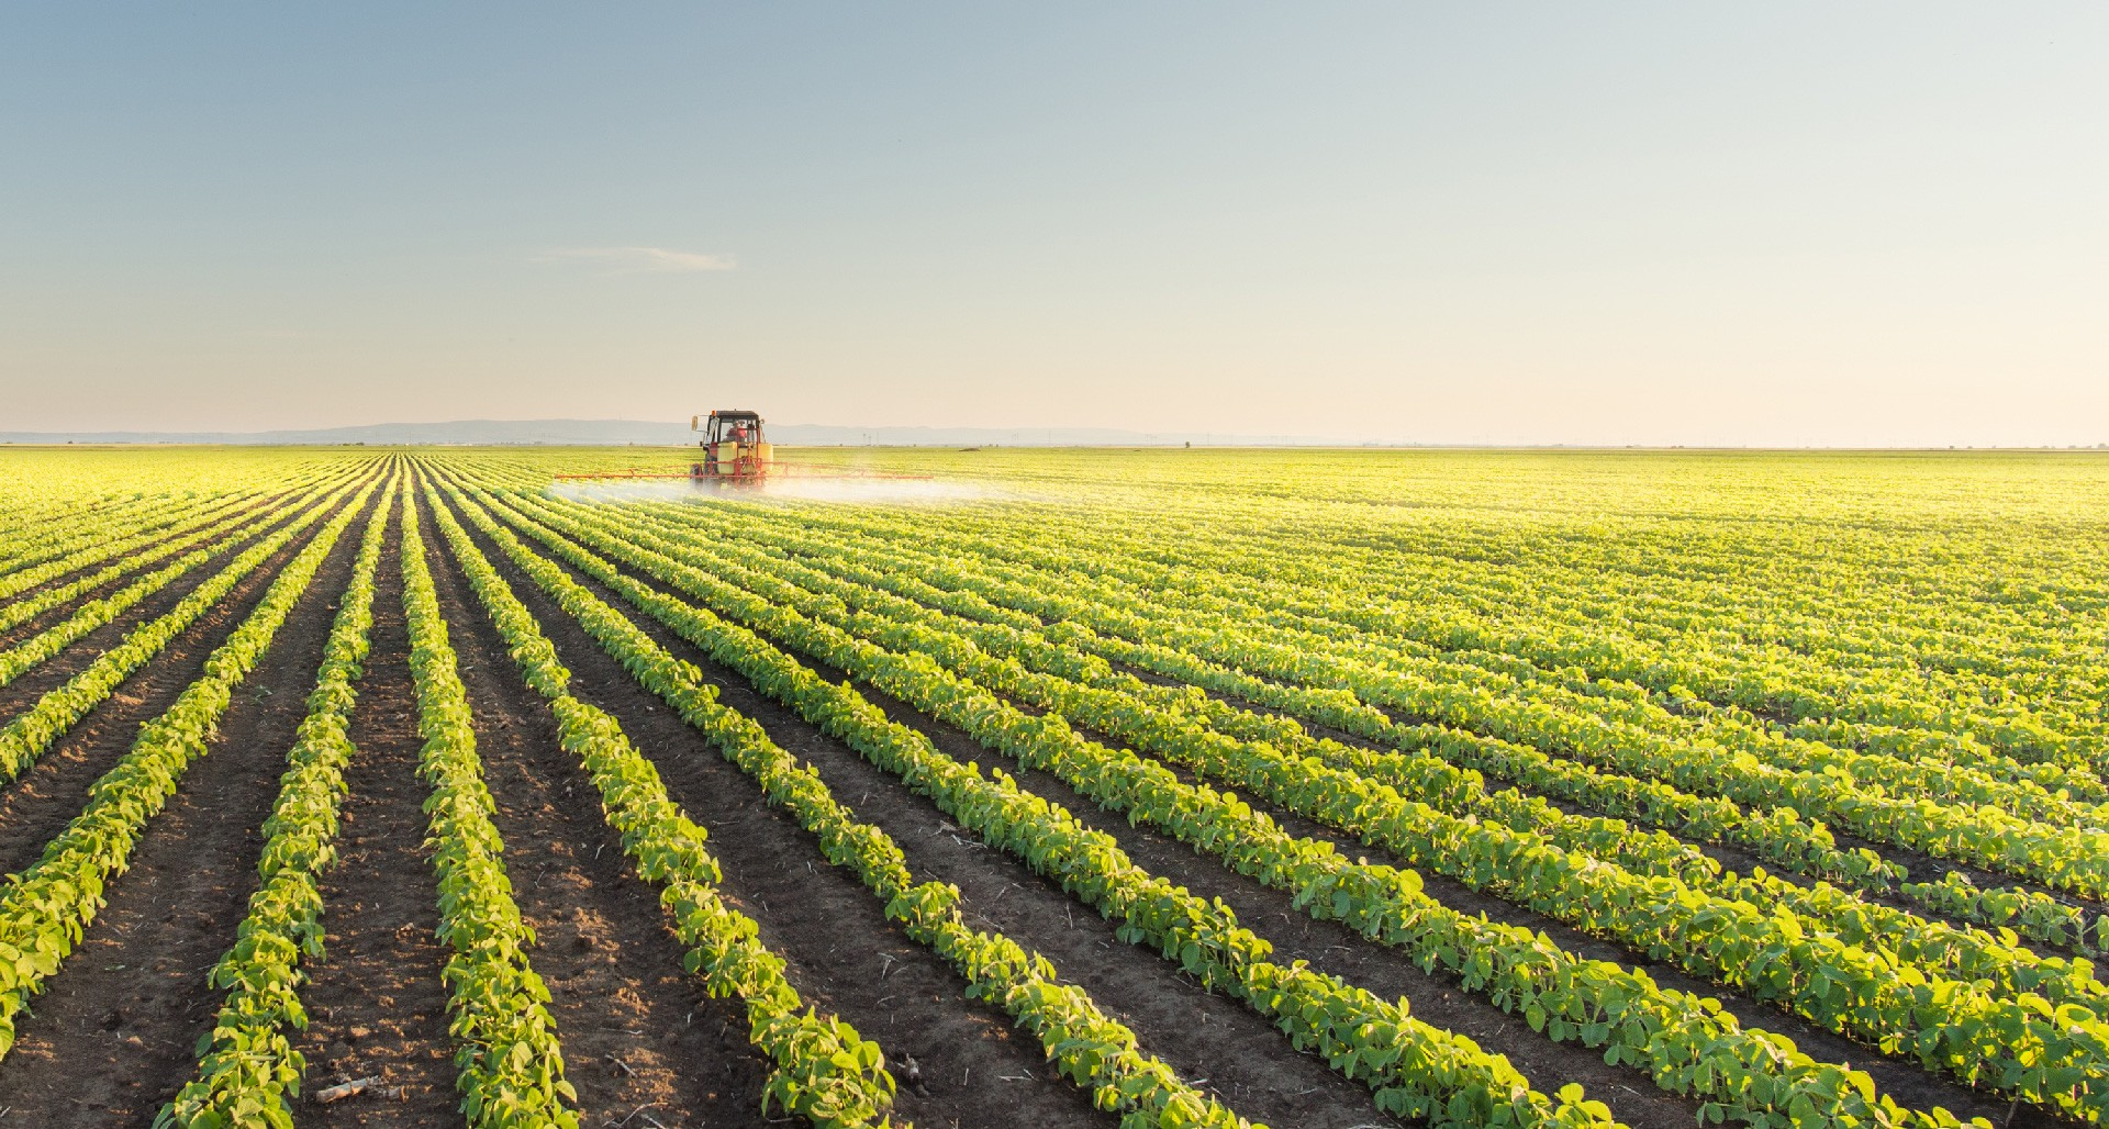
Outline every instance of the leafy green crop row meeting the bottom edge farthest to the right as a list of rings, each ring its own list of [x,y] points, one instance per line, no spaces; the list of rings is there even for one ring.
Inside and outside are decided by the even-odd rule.
[[[1814,1061],[1778,1034],[1744,1030],[1713,1000],[1660,990],[1618,964],[1575,958],[1531,931],[1457,914],[1424,895],[1413,872],[1350,863],[1331,844],[1286,836],[1236,796],[1185,785],[1162,766],[1084,741],[1059,717],[1027,717],[928,656],[886,652],[814,625],[614,534],[580,530],[555,515],[544,521],[572,525],[633,568],[763,633],[799,639],[801,650],[962,726],[991,749],[1059,774],[1101,806],[1219,855],[1240,874],[1293,891],[1312,916],[1343,920],[1407,950],[1424,967],[1459,973],[1470,990],[1527,1015],[1554,1040],[1607,1047],[1607,1061],[1641,1066],[1660,1087],[1704,1097],[1715,1116],[1753,1125],[1784,1125],[1791,1116],[1911,1121],[1888,1097],[1875,1099],[1864,1074]],[[1938,1110],[1919,1118],[1947,1121]]]

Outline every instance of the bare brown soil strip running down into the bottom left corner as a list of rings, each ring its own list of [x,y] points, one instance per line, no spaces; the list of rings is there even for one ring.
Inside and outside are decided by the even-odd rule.
[[[0,1074],[0,1106],[11,1116],[148,1125],[190,1078],[196,1040],[224,1000],[207,973],[234,943],[255,891],[259,825],[306,715],[356,530],[337,540],[272,648],[234,690],[207,755],[148,825],[131,867],[110,882],[108,905],[34,1002],[36,1017],[23,1023]],[[268,572],[259,576],[268,580]]]

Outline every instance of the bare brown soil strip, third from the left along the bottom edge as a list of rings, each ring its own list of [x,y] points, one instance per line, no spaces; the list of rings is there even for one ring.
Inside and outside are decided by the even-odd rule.
[[[563,749],[546,703],[506,656],[430,517],[424,530],[580,1121],[645,1110],[666,1125],[761,1125],[766,1064],[747,1045],[744,1009],[707,998],[683,969],[658,891],[633,876],[599,791]]]

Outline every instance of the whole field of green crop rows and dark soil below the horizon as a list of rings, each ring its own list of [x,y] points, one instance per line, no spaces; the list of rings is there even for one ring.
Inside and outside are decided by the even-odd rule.
[[[2109,1121],[2101,454],[673,458],[0,447],[0,1129]]]

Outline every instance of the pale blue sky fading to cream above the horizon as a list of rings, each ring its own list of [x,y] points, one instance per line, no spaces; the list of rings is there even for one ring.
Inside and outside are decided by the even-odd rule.
[[[0,430],[2109,441],[2109,6],[0,8]]]

